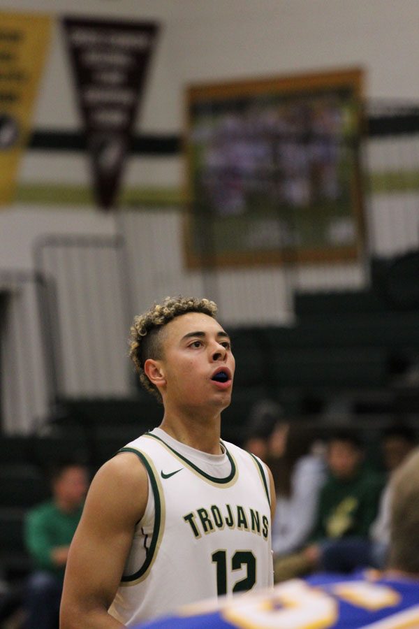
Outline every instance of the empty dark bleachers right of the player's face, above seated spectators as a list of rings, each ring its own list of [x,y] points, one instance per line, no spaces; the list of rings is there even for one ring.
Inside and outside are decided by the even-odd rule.
[[[352,396],[353,410],[409,410],[400,386],[419,365],[418,253],[373,259],[370,271],[369,289],[297,292],[291,326],[232,331],[237,378],[230,415],[235,398],[252,387],[291,415],[304,410],[307,396],[323,400],[320,408]]]

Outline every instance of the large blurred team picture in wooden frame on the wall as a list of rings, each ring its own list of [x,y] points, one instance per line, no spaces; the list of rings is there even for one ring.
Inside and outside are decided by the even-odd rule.
[[[187,89],[189,267],[351,261],[362,71]]]

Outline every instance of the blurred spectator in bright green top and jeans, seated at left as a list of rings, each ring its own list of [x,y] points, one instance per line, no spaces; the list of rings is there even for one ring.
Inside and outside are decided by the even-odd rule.
[[[25,544],[34,562],[24,598],[24,629],[57,629],[68,549],[87,493],[87,468],[66,461],[51,474],[52,498],[27,514]]]

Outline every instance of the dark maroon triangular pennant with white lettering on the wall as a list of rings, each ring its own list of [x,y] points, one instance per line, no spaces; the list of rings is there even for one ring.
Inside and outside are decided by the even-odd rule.
[[[63,20],[91,158],[96,202],[115,207],[158,26]]]

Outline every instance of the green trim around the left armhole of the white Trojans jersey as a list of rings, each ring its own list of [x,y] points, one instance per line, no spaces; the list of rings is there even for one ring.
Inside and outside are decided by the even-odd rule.
[[[152,541],[150,543],[149,549],[147,550],[145,562],[140,567],[140,570],[138,570],[134,574],[124,574],[121,579],[121,584],[133,585],[133,581],[135,581],[135,583],[138,583],[138,581],[142,581],[142,579],[145,579],[145,577],[147,577],[149,568],[154,562],[156,551],[159,546],[159,540],[161,540],[161,534],[164,524],[164,507],[162,505],[162,499],[159,491],[159,482],[156,479],[156,474],[154,474],[154,470],[152,468],[152,465],[149,463],[147,456],[145,456],[145,454],[143,454],[139,450],[129,447],[121,448],[119,452],[133,452],[133,454],[136,454],[138,458],[140,458],[140,461],[147,470],[154,496],[154,527]]]

